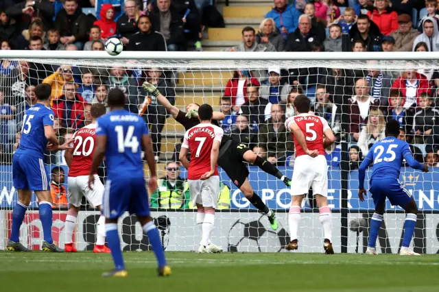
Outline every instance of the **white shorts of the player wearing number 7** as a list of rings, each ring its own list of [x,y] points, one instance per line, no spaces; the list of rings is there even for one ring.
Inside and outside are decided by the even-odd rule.
[[[213,175],[207,180],[188,180],[191,202],[203,207],[218,208],[219,176]]]

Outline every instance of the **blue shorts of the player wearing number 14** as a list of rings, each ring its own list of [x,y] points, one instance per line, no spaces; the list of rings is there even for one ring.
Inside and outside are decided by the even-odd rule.
[[[104,216],[108,219],[121,217],[124,212],[140,217],[150,216],[150,204],[145,186],[145,179],[108,178],[104,191]]]

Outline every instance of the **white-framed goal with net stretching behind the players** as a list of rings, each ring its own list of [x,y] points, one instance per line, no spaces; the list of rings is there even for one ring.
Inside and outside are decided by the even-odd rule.
[[[354,55],[355,54],[355,55]],[[430,165],[429,173],[401,169],[401,182],[416,199],[418,221],[414,250],[439,249],[439,127],[436,110],[439,64],[434,53],[192,53],[123,52],[110,57],[103,52],[9,51],[0,52],[0,250],[5,248],[18,195],[12,184],[12,155],[19,144],[23,114],[36,102],[33,89],[42,82],[52,86],[55,130],[60,141],[86,125],[88,104],[106,104],[111,88],[126,94],[126,108],[141,114],[150,128],[157,161],[158,190],[150,193],[152,217],[167,251],[195,250],[200,232],[195,210],[189,204],[187,171],[176,164],[185,132],[174,117],[142,88],[145,80],[156,84],[167,101],[182,112],[189,104],[211,104],[223,112],[224,132],[265,156],[292,177],[295,149],[283,122],[294,116],[292,102],[304,94],[311,110],[327,119],[337,137],[327,149],[329,206],[333,212],[335,252],[366,250],[374,204],[368,193],[357,197],[358,166],[375,141],[383,138],[388,119],[401,124],[401,139],[412,145],[414,157]],[[410,60],[409,60],[410,59]],[[143,112],[143,113],[142,113]],[[62,151],[45,155],[51,173],[54,200],[54,241],[64,247],[69,169]],[[279,228],[270,229],[267,217],[257,212],[243,193],[220,171],[219,212],[213,242],[229,252],[283,252],[289,241],[289,188],[258,167],[248,165],[248,180],[272,210]],[[102,180],[105,171],[99,172]],[[149,171],[145,167],[145,177]],[[370,177],[370,169],[366,180]],[[366,187],[368,183],[366,182]],[[312,192],[302,202],[298,232],[299,252],[322,252],[322,228]],[[92,250],[99,212],[83,200],[75,229],[78,250]],[[377,250],[399,252],[405,214],[387,204]],[[150,250],[135,217],[119,221],[123,250]],[[32,202],[21,227],[21,242],[40,249],[43,231],[38,202]]]

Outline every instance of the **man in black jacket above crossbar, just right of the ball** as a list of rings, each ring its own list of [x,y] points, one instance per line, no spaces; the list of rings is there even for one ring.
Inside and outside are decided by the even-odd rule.
[[[130,36],[128,51],[166,51],[163,35],[154,31],[150,16],[142,15],[137,22],[139,32]]]

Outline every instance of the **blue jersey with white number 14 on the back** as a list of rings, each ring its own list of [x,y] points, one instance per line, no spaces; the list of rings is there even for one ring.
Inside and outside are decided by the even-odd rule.
[[[124,174],[142,175],[142,135],[148,134],[145,121],[128,110],[113,110],[97,119],[96,135],[105,135],[108,178]]]

